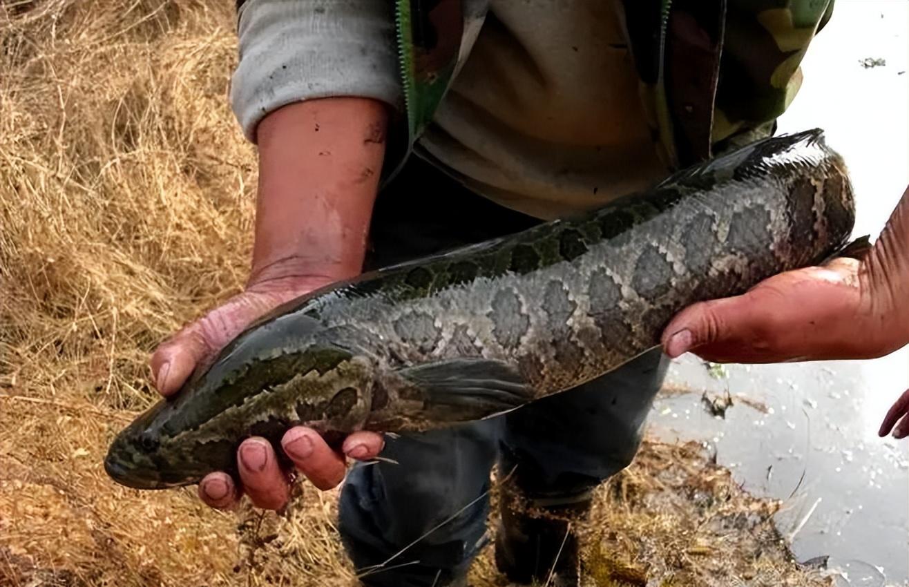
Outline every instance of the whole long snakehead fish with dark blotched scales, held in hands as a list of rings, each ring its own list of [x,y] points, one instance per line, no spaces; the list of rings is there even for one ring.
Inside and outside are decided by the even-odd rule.
[[[235,473],[250,435],[422,431],[504,413],[659,344],[685,306],[820,264],[854,197],[823,131],[757,141],[589,213],[385,267],[275,309],[139,416],[107,473]],[[280,453],[280,452],[279,452]]]

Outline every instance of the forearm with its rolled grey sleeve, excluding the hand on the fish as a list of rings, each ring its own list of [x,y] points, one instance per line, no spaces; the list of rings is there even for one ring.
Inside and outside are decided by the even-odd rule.
[[[231,104],[259,147],[250,281],[359,273],[402,101],[392,6],[258,0],[238,15]]]

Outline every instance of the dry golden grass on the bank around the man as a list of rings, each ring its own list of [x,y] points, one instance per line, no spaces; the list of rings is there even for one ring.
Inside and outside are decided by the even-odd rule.
[[[255,151],[227,104],[232,5],[0,3],[0,585],[352,581],[335,492],[276,524],[126,490],[101,464],[157,399],[155,344],[245,280]],[[774,505],[688,449],[647,443],[602,491],[598,585],[808,584]],[[488,556],[474,575],[501,581]]]

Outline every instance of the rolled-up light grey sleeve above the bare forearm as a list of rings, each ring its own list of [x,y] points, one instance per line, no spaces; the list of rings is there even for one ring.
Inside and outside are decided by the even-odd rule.
[[[265,114],[301,100],[360,96],[402,107],[393,2],[247,0],[237,17],[230,102],[253,143]]]

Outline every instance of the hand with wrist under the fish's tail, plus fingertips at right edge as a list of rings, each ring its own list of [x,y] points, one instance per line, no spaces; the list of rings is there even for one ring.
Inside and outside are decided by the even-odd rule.
[[[774,275],[743,295],[694,303],[664,329],[664,353],[714,363],[871,359],[909,343],[909,189],[859,262]],[[879,434],[909,435],[909,392]]]

